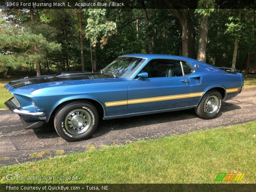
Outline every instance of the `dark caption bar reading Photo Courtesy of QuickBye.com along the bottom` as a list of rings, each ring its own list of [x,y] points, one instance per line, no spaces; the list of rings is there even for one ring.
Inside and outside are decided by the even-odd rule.
[[[256,184],[0,184],[0,192],[255,192]]]

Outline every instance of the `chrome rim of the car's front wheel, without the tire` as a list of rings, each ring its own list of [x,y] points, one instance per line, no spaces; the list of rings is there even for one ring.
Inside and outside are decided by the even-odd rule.
[[[65,128],[74,135],[86,132],[92,124],[90,114],[83,109],[72,110],[65,119]]]

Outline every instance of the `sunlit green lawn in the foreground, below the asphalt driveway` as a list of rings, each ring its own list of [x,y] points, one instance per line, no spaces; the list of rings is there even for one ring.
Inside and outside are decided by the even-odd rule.
[[[18,173],[78,176],[37,183],[214,183],[218,173],[245,173],[241,183],[256,183],[255,134],[256,122],[250,122],[56,156],[2,167],[0,182],[31,182],[5,179]]]

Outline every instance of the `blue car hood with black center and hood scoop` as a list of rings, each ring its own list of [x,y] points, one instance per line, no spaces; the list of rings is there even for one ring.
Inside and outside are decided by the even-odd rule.
[[[23,78],[19,80],[10,81],[4,87],[9,92],[26,92],[31,93],[34,90],[53,87],[53,86],[70,86],[78,84],[92,84],[122,81],[123,78],[114,78],[101,74],[100,72],[60,72],[55,75],[38,76],[32,78]]]

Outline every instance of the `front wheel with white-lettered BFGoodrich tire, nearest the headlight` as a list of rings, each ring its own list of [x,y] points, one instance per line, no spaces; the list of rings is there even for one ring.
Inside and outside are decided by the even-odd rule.
[[[70,102],[56,112],[54,127],[66,141],[89,138],[98,126],[96,108],[89,102]]]

